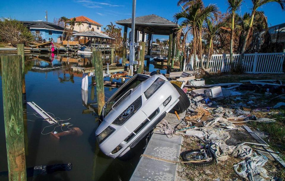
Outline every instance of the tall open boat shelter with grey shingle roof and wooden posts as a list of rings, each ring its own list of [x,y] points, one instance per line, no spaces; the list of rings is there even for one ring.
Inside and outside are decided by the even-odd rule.
[[[124,26],[124,57],[123,62],[126,62],[126,41],[127,41],[127,30],[132,27],[132,18],[115,21],[115,23]],[[167,58],[167,65],[170,65],[171,59],[174,59],[175,55],[175,28],[177,28],[177,23],[174,23],[170,20],[162,18],[158,15],[145,15],[136,17],[135,19],[135,40],[137,41],[137,31],[141,31],[143,34],[143,41],[145,39],[145,34],[148,34],[148,55],[150,55],[151,47],[151,37],[153,34],[156,35],[169,35],[169,51]]]

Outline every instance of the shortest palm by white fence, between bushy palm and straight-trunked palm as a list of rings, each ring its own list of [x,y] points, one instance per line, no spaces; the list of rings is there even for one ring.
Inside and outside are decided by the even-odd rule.
[[[210,19],[206,19],[206,29],[207,29],[207,34],[208,34],[208,38],[209,38],[209,51],[208,51],[208,59],[207,59],[207,64],[206,64],[206,69],[209,67],[209,61],[210,61],[210,57],[212,56],[213,53],[213,45],[212,45],[212,41],[213,38],[220,33],[220,30],[223,26],[226,25],[226,21],[221,21],[219,23],[214,24],[213,21],[211,21]]]

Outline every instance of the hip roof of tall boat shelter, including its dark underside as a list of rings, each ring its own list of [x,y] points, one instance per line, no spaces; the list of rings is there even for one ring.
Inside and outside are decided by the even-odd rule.
[[[139,31],[144,31],[146,34],[159,34],[159,35],[169,35],[172,30],[178,27],[177,23],[170,20],[162,18],[158,15],[145,15],[136,17],[135,28]],[[118,20],[115,23],[131,28],[132,18]]]

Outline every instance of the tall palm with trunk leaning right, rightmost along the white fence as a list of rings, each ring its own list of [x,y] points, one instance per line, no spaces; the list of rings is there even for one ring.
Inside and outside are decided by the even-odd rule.
[[[251,0],[251,1],[253,4],[252,10],[251,10],[251,18],[250,18],[249,28],[248,28],[247,33],[246,33],[246,37],[243,41],[243,47],[241,49],[240,59],[238,61],[238,67],[241,66],[241,63],[243,61],[243,56],[244,56],[244,53],[246,51],[246,45],[247,45],[248,37],[250,34],[252,34],[252,26],[254,24],[253,23],[254,22],[254,16],[257,13],[257,9],[259,7],[261,7],[262,5],[267,4],[269,2],[277,2],[280,5],[282,10],[285,9],[285,0]]]

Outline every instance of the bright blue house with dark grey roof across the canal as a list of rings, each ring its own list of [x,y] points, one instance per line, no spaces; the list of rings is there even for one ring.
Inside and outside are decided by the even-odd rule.
[[[64,31],[64,27],[59,25],[45,22],[45,21],[21,21],[24,26],[26,26],[31,33],[39,34],[42,39],[49,41],[53,38],[54,42],[57,42],[57,38],[62,35]],[[68,32],[69,29],[66,29],[65,32]],[[73,33],[78,33],[77,31],[73,31]]]

